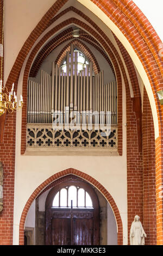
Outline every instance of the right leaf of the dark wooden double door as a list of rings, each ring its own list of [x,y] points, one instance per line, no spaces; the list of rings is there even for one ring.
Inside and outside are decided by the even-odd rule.
[[[73,245],[93,245],[92,218],[73,218]]]

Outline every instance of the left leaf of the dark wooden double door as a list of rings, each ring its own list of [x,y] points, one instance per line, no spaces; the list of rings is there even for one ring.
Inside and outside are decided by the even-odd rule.
[[[51,245],[71,245],[70,218],[52,218]]]

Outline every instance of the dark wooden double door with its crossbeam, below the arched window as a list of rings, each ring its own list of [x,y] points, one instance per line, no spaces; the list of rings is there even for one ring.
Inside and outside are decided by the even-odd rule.
[[[98,223],[92,210],[52,210],[46,245],[98,245]]]

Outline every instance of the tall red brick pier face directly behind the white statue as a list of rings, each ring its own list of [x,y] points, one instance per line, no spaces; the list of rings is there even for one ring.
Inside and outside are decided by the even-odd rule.
[[[127,112],[127,202],[128,202],[128,243],[131,223],[135,215],[143,223],[143,173],[142,152],[139,151],[136,115],[129,86],[126,85]]]

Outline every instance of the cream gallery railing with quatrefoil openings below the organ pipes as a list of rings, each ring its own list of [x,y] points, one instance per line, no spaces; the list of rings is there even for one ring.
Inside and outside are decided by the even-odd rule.
[[[117,149],[117,126],[109,133],[102,130],[54,130],[51,124],[28,124],[29,148],[110,148]]]

